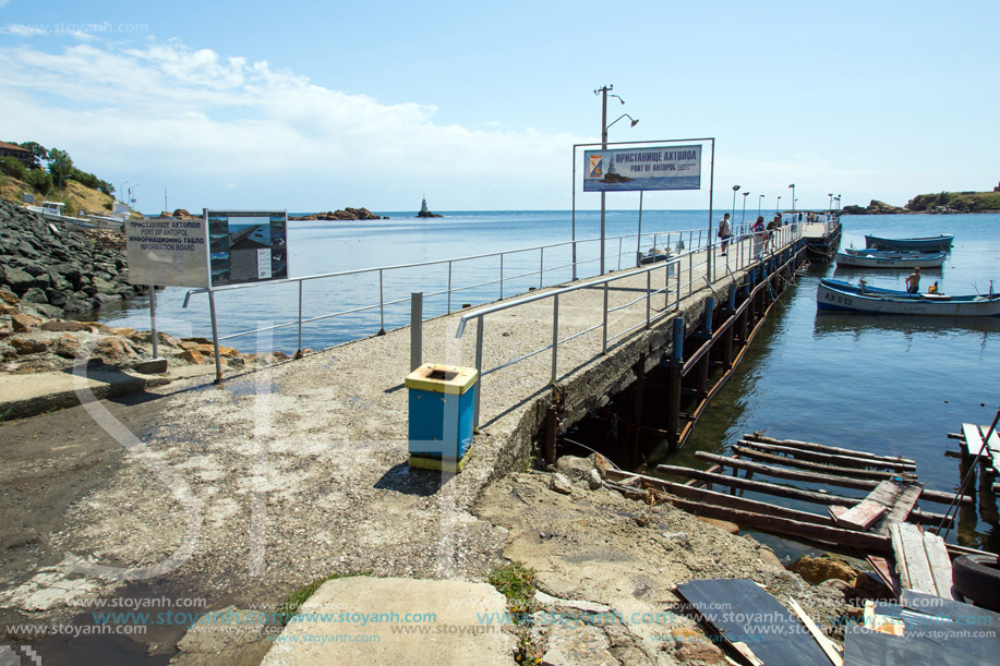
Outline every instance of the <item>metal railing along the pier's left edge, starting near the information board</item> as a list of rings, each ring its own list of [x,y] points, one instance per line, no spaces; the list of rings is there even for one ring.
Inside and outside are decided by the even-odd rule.
[[[617,241],[617,244],[618,244],[617,270],[621,270],[623,267],[623,257],[626,257],[626,261],[624,264],[626,267],[635,266],[639,263],[639,257],[642,254],[643,249],[665,247],[674,252],[682,252],[685,250],[690,252],[691,250],[704,249],[707,246],[707,242],[706,242],[707,239],[708,239],[708,235],[704,229],[658,231],[653,233],[609,237],[605,239],[605,247],[607,247],[609,245],[613,247],[614,243]],[[505,293],[505,284],[509,286],[511,282],[525,280],[526,278],[531,278],[534,276],[538,277],[538,286],[537,287],[532,286],[528,288],[528,291],[532,291],[534,289],[543,289],[546,286],[545,284],[546,277],[551,278],[552,276],[558,276],[561,273],[571,271],[574,275],[576,275],[577,269],[579,269],[580,267],[585,267],[585,268],[593,267],[594,273],[597,273],[597,265],[600,262],[600,258],[598,256],[594,256],[594,258],[578,261],[576,262],[575,265],[573,261],[570,259],[569,262],[556,263],[554,265],[546,266],[545,258],[546,258],[546,253],[550,257],[552,257],[553,253],[557,252],[559,249],[568,249],[569,246],[573,246],[573,245],[576,245],[577,247],[581,245],[582,246],[593,245],[593,244],[600,245],[600,242],[601,240],[598,238],[581,239],[577,241],[564,241],[561,243],[553,243],[549,245],[523,247],[523,249],[510,250],[510,251],[505,251],[505,252],[492,252],[492,253],[486,253],[486,254],[469,255],[469,256],[462,256],[462,257],[456,257],[456,258],[449,258],[449,259],[435,259],[431,262],[398,264],[394,266],[382,266],[377,268],[360,268],[360,269],[342,270],[342,271],[336,271],[336,273],[324,273],[324,274],[316,274],[316,275],[303,276],[303,277],[298,277],[298,278],[289,278],[286,280],[270,280],[267,282],[248,282],[243,284],[228,284],[228,286],[222,286],[222,287],[216,287],[213,289],[206,289],[206,288],[191,289],[184,294],[183,307],[188,307],[190,299],[194,294],[207,293],[209,296],[210,307],[214,311],[215,310],[214,300],[213,300],[214,294],[221,294],[221,293],[226,293],[230,291],[238,291],[238,290],[243,290],[243,289],[254,289],[254,288],[260,288],[263,286],[296,284],[298,289],[298,316],[294,318],[294,320],[284,322],[279,324],[274,324],[272,326],[264,326],[264,327],[254,328],[250,330],[241,330],[237,332],[231,332],[228,335],[218,336],[218,339],[219,340],[232,340],[234,338],[240,338],[240,337],[250,336],[254,334],[261,334],[261,332],[279,330],[279,329],[296,328],[298,349],[301,350],[303,349],[303,346],[302,346],[302,327],[303,326],[309,325],[309,324],[314,324],[317,322],[333,319],[336,317],[344,317],[348,315],[356,315],[359,313],[377,311],[378,313],[378,334],[384,334],[386,330],[386,308],[389,308],[394,305],[401,305],[403,303],[409,302],[410,300],[409,290],[406,294],[400,295],[399,298],[390,298],[388,300],[386,299],[385,283],[386,283],[387,274],[399,273],[399,271],[410,270],[410,269],[418,269],[418,268],[447,266],[447,286],[443,289],[424,292],[424,298],[425,299],[430,299],[434,296],[443,298],[445,300],[444,311],[446,314],[450,314],[451,312],[455,311],[455,308],[453,307],[453,296],[456,294],[461,294],[463,292],[469,292],[472,290],[495,286],[498,291],[498,298],[504,299],[505,296],[515,295],[511,293]],[[631,247],[635,247],[635,254],[632,254]],[[532,269],[532,270],[527,270],[527,271],[525,271],[521,268],[519,273],[511,275],[510,274],[510,264],[511,263],[519,263],[521,265],[525,264],[523,261],[511,262],[511,258],[518,258],[519,255],[526,255],[530,253],[538,253],[539,255],[538,268]],[[576,255],[576,252],[574,252],[573,254]],[[595,253],[595,254],[600,254],[600,253]],[[486,279],[486,280],[475,281],[475,282],[472,282],[469,284],[462,284],[462,286],[453,284],[455,271],[459,265],[470,263],[470,262],[477,262],[477,261],[486,261],[491,258],[499,259],[498,276],[495,279]],[[611,261],[614,262],[613,253],[612,253]],[[353,277],[353,276],[375,276],[375,275],[378,276],[378,302],[377,303],[373,302],[372,304],[369,304],[369,305],[359,305],[357,307],[350,307],[350,308],[341,310],[337,312],[325,313],[325,314],[313,315],[313,316],[304,316],[304,311],[308,305],[304,302],[304,296],[303,296],[303,286],[305,282],[316,281],[316,280],[332,280],[332,279],[338,279],[338,278],[342,279],[342,278]],[[567,281],[567,279],[568,279],[568,276],[565,278],[557,278],[552,283],[558,283],[559,281],[565,282]],[[525,291],[521,291],[520,293],[525,293]],[[214,318],[214,315],[213,315],[213,318]],[[213,327],[215,328],[214,320],[213,320]]]

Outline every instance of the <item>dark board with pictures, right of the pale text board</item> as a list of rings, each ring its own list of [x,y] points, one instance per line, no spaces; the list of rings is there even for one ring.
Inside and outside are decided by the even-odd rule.
[[[288,213],[205,210],[212,286],[288,277]]]

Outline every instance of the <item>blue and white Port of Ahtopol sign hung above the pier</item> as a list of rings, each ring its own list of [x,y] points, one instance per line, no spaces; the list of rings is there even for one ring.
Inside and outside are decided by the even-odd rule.
[[[583,192],[700,189],[700,145],[583,153]]]

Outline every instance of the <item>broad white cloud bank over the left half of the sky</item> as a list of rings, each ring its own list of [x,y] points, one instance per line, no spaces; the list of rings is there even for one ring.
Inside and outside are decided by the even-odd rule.
[[[507,191],[529,196],[564,189],[565,162],[579,137],[437,125],[435,112],[176,40],[130,50],[79,44],[58,53],[0,48],[7,131],[64,147],[104,178],[115,177],[109,169],[131,175],[145,168],[150,178],[197,181],[203,191],[238,181],[241,192],[258,196],[262,187],[279,196],[293,182],[315,199],[289,202],[294,208],[338,205],[344,195],[334,192],[366,189],[366,197],[390,197],[390,187],[378,184],[389,182],[405,184],[400,197],[431,184],[468,193],[477,181],[497,179],[511,179]],[[391,209],[394,201],[369,204]]]

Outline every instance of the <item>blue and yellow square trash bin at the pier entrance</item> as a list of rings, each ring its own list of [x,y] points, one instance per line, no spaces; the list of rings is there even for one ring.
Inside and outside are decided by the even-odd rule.
[[[479,373],[425,363],[407,375],[410,467],[459,472],[472,447]]]

